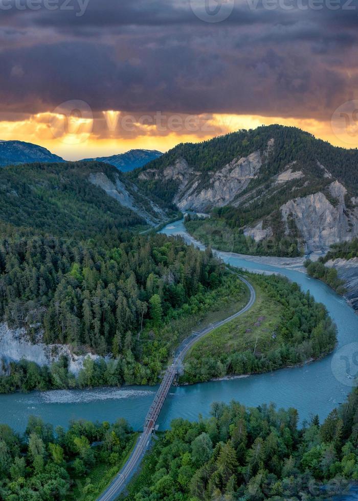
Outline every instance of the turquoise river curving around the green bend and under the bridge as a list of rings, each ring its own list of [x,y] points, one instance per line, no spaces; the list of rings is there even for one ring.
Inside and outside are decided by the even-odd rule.
[[[189,241],[183,221],[167,225],[162,233],[179,233]],[[309,290],[317,301],[326,305],[337,324],[338,347],[334,354],[303,367],[173,388],[159,418],[160,429],[168,428],[173,418],[195,420],[199,413],[208,416],[213,401],[230,402],[233,399],[248,406],[275,402],[277,407],[296,407],[301,422],[315,414],[323,420],[345,400],[352,385],[349,373],[354,375],[358,371],[358,361],[354,357],[358,353],[358,315],[332,289],[300,271],[258,264],[226,253],[218,254],[227,263],[238,267],[279,272],[300,284],[304,291]],[[155,390],[149,386],[130,386],[1,395],[0,423],[8,423],[23,431],[30,415],[41,416],[46,422],[62,426],[67,426],[71,419],[113,422],[124,417],[133,428],[140,429]]]

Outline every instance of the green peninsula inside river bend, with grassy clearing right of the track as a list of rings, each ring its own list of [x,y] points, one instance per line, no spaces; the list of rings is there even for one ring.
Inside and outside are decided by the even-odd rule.
[[[275,275],[248,277],[255,305],[198,341],[185,358],[183,382],[273,371],[334,349],[337,329],[309,292]]]

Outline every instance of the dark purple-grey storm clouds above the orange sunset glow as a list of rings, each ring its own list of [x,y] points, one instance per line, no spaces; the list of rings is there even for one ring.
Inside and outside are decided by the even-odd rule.
[[[326,119],[351,98],[356,4],[335,11],[249,5],[237,2],[214,24],[180,0],[90,0],[81,17],[0,11],[3,111],[39,112],[81,99],[95,112]]]

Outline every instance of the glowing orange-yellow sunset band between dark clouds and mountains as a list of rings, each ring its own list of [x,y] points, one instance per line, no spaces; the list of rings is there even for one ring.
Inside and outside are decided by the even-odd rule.
[[[122,153],[138,147],[165,152],[178,143],[205,141],[239,129],[275,123],[300,127],[334,146],[355,147],[347,143],[345,138],[335,135],[330,122],[315,119],[224,113],[166,113],[162,124],[159,124],[155,123],[155,113],[135,117],[131,113],[114,110],[104,111],[102,117],[93,119],[43,112],[21,120],[4,120],[0,121],[0,138],[39,144],[66,160],[80,160]]]

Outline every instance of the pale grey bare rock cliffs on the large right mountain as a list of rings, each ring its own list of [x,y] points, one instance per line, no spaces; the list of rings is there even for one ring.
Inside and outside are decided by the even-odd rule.
[[[271,141],[273,147],[274,141]],[[178,158],[163,172],[149,169],[140,174],[140,179],[172,180],[177,183],[174,203],[182,211],[210,211],[214,207],[234,206],[244,211],[250,209],[254,202],[261,204],[265,200],[275,200],[281,196],[285,186],[291,186],[286,198],[280,206],[280,220],[284,225],[284,233],[289,235],[289,219],[297,227],[300,241],[304,244],[306,253],[325,251],[330,245],[350,240],[358,235],[358,204],[356,198],[350,199],[347,207],[347,189],[337,179],[332,181],[332,176],[327,175],[327,170],[320,164],[322,177],[330,181],[325,185],[325,190],[311,193],[304,197],[293,197],[300,189],[309,189],[309,177],[302,170],[293,170],[295,163],[287,165],[285,169],[269,181],[265,186],[259,185],[253,190],[248,190],[252,180],[259,180],[261,168],[267,157],[270,146],[263,154],[255,151],[247,157],[234,158],[232,162],[223,166],[208,176],[191,168],[184,158]],[[270,207],[270,204],[267,204]],[[243,231],[256,241],[270,238],[274,229],[263,220],[268,219],[270,212],[265,214],[254,225],[247,225]],[[277,222],[277,221],[276,221]]]

